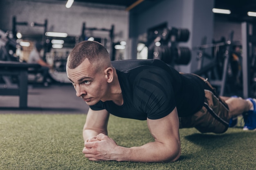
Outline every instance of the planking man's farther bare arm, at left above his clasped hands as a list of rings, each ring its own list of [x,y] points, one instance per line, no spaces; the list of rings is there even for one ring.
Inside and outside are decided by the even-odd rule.
[[[87,141],[88,139],[91,139],[100,133],[108,135],[108,118],[109,113],[107,110],[95,111],[89,108],[85,125],[83,127],[84,141]]]

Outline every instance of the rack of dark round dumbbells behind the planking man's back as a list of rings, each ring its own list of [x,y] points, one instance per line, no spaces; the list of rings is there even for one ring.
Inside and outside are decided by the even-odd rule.
[[[188,47],[180,47],[179,42],[189,40],[188,29],[168,29],[167,23],[148,29],[148,59],[159,59],[167,64],[189,64],[191,51]]]

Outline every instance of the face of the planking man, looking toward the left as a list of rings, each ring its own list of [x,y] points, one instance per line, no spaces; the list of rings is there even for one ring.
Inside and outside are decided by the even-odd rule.
[[[67,67],[67,77],[76,90],[76,96],[82,97],[88,105],[104,100],[107,93],[107,76],[103,70],[98,72],[96,70],[88,59],[74,69]]]

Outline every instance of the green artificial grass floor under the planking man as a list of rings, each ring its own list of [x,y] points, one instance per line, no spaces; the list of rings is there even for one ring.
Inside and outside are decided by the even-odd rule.
[[[82,128],[86,115],[0,114],[0,170],[255,170],[256,131],[225,134],[181,129],[176,162],[89,161]],[[146,121],[110,116],[109,136],[125,147],[153,141]]]

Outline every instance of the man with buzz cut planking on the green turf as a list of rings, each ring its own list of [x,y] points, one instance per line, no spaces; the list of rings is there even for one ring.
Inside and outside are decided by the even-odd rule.
[[[207,80],[180,74],[160,60],[112,64],[107,50],[93,41],[79,43],[67,58],[67,77],[76,95],[90,106],[83,153],[92,161],[176,161],[181,153],[179,128],[222,133],[231,117],[250,109],[250,116],[256,115],[253,99],[232,97],[224,102]],[[139,147],[118,146],[107,136],[110,113],[147,120],[155,141]]]

